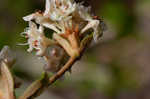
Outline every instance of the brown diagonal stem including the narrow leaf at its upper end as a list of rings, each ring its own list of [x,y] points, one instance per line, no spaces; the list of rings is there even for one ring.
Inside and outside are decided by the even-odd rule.
[[[56,80],[62,77],[65,74],[65,72],[67,72],[72,67],[72,65],[82,57],[84,50],[90,44],[92,38],[92,35],[88,35],[81,41],[80,56],[70,57],[68,62],[50,78],[47,77],[47,74],[44,74],[40,80],[37,80],[33,84],[31,84],[31,86],[27,88],[27,90],[19,99],[34,99],[40,94],[42,94],[45,91],[45,89],[47,89]]]

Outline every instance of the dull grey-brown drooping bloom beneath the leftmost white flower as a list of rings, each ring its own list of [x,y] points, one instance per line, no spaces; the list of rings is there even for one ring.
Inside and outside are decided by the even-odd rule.
[[[54,73],[65,64],[66,60],[68,60],[64,49],[57,45],[49,46],[44,58],[46,60],[44,70]]]

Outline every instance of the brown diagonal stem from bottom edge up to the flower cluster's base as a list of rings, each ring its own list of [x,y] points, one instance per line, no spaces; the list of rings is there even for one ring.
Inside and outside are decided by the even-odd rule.
[[[77,57],[70,57],[68,62],[55,75],[49,79],[44,77],[45,80],[42,79],[44,82],[41,80],[34,82],[19,99],[35,99],[38,97],[48,88],[48,86],[52,85],[57,79],[63,76],[63,74],[76,62],[76,60]]]

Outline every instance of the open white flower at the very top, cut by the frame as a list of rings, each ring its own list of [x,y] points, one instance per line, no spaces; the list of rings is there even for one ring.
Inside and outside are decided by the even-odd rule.
[[[76,3],[72,0],[46,0],[44,16],[50,17],[53,21],[60,21],[67,18],[76,9]]]

